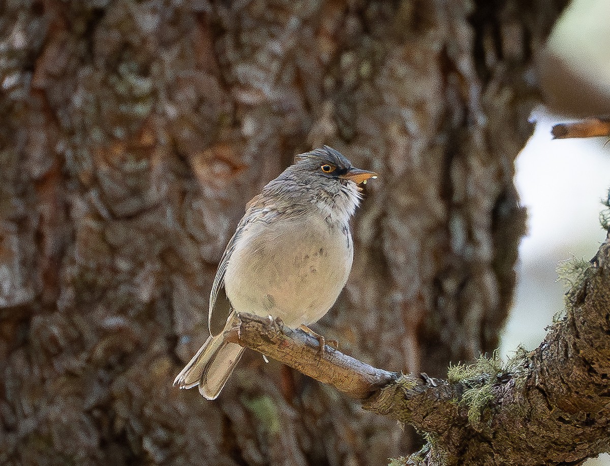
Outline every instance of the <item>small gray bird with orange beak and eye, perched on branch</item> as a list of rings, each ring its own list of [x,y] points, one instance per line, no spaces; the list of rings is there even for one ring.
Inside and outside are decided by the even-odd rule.
[[[376,177],[324,146],[297,155],[246,205],[212,284],[210,337],[174,385],[198,385],[204,398],[218,397],[244,350],[224,342],[224,331],[237,321],[235,311],[279,317],[291,328],[328,312],[350,274],[349,221],[361,199],[357,185]],[[219,313],[228,315],[226,325],[213,333],[212,314]]]

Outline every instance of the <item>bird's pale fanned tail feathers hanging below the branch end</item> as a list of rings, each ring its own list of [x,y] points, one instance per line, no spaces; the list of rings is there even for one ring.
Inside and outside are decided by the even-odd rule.
[[[238,344],[224,341],[224,331],[229,330],[235,321],[235,314],[232,313],[224,330],[217,336],[208,337],[196,355],[176,376],[174,386],[189,389],[198,385],[199,393],[207,400],[218,397],[244,350]]]

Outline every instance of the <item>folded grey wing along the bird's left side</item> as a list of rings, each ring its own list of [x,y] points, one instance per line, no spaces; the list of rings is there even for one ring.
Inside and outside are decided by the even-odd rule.
[[[261,196],[254,197],[248,205],[246,205],[246,213],[240,220],[237,228],[235,229],[234,235],[229,239],[229,243],[227,247],[224,249],[223,256],[220,258],[220,264],[218,264],[218,270],[216,272],[216,277],[214,277],[214,281],[212,283],[212,291],[210,292],[210,307],[207,316],[207,325],[210,330],[210,335],[216,336],[220,334],[222,329],[224,328],[224,322],[228,319],[229,314],[231,313],[231,303],[224,292],[224,274],[226,274],[227,267],[229,266],[229,261],[231,260],[231,255],[235,250],[237,242],[239,242],[240,237],[242,236],[245,229],[248,225],[253,222],[263,222],[265,224],[268,223],[271,217],[276,214],[276,209],[270,203],[264,203],[261,199]],[[217,325],[212,324],[212,315],[214,316],[214,324],[216,322],[219,323],[217,330]],[[212,327],[215,327],[212,331]]]

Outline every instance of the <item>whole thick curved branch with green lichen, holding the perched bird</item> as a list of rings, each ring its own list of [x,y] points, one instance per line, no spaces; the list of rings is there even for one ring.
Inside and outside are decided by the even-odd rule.
[[[610,237],[610,235],[609,235]],[[376,369],[301,330],[251,314],[231,342],[284,362],[428,432],[412,465],[581,464],[610,450],[610,241],[572,270],[570,305],[536,350],[510,367],[453,368],[448,380]]]

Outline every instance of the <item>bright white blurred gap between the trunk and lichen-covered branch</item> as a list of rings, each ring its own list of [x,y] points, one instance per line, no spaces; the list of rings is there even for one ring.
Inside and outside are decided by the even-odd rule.
[[[536,131],[517,158],[515,184],[528,209],[519,245],[517,288],[502,336],[502,353],[537,347],[554,314],[564,308],[565,285],[555,268],[591,259],[605,239],[599,216],[608,196],[610,157],[605,138],[551,139],[564,117],[536,115]]]

